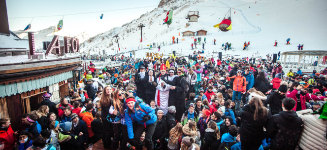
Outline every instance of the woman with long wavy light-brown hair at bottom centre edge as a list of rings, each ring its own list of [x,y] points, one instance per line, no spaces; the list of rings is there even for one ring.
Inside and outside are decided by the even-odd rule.
[[[182,143],[182,137],[183,125],[178,122],[176,126],[169,131],[168,150],[179,150],[180,144]]]

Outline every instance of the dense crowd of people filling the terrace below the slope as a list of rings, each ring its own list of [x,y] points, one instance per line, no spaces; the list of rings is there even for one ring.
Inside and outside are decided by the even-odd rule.
[[[283,75],[279,63],[252,62],[190,55],[105,67],[107,86],[85,78],[59,104],[44,94],[15,132],[1,118],[0,150],[84,150],[100,139],[112,150],[326,148],[327,68]]]

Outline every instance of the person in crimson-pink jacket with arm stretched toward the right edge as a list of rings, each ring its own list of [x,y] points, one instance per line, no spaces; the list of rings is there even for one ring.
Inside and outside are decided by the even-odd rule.
[[[316,96],[310,93],[306,93],[303,90],[303,85],[299,82],[293,82],[290,91],[287,93],[287,97],[293,98],[295,101],[295,107],[293,111],[301,111],[305,110],[305,102],[306,101],[327,101],[327,97],[325,96]]]

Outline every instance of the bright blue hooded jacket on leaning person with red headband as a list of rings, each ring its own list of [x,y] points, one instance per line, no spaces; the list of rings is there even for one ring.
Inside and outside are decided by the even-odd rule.
[[[134,138],[133,121],[136,121],[137,123],[144,125],[144,126],[152,124],[157,121],[157,115],[155,114],[155,110],[152,109],[149,105],[140,103],[139,107],[140,107],[140,109],[138,111],[136,111],[135,105],[134,105],[135,112],[131,112],[129,108],[125,111],[125,120],[126,120],[127,131],[128,131],[130,139]],[[141,109],[145,112],[141,111]],[[143,120],[142,117],[144,115],[150,116],[151,117],[150,120],[148,120],[146,122],[141,122]]]

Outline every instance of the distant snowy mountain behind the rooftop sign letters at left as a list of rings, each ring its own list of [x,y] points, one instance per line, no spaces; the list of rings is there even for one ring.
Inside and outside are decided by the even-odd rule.
[[[57,35],[60,37],[60,40],[64,40],[64,37],[75,37],[79,39],[79,42],[82,43],[86,39],[90,38],[86,32],[82,32],[79,34],[74,34],[74,33],[65,33],[63,31],[53,33],[53,31],[56,29],[56,26],[51,26],[49,28],[34,32],[34,39],[35,39],[35,47],[36,49],[41,49],[43,48],[43,41],[51,41],[54,35]],[[28,38],[28,33],[32,31],[13,31],[19,38],[22,39],[29,39]]]

